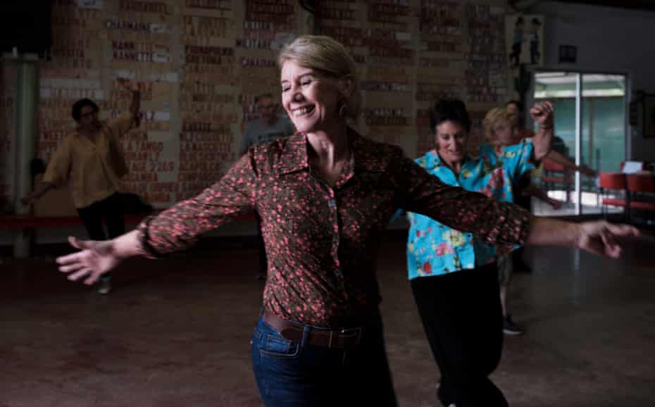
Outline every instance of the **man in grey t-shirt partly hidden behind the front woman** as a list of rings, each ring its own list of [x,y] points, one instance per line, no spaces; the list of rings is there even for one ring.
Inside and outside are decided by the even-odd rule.
[[[259,119],[253,120],[246,125],[244,137],[239,146],[239,156],[243,156],[249,146],[258,143],[272,142],[280,137],[287,137],[296,132],[296,128],[291,123],[287,115],[277,115],[279,105],[273,101],[273,95],[262,94],[255,98]],[[259,247],[259,270],[258,280],[266,280],[268,263],[266,261],[266,247],[264,239],[261,236],[261,218],[255,212],[257,222],[257,244]]]

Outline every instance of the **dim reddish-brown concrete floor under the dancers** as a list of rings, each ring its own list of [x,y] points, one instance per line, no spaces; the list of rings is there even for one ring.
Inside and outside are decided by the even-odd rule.
[[[380,251],[387,350],[401,406],[438,406],[438,372],[406,282],[404,242]],[[645,253],[645,254],[644,254]],[[493,380],[512,406],[655,406],[655,245],[611,261],[528,251]],[[261,406],[249,339],[256,251],[128,261],[101,296],[51,260],[0,263],[0,407]],[[475,299],[471,299],[475,301]]]

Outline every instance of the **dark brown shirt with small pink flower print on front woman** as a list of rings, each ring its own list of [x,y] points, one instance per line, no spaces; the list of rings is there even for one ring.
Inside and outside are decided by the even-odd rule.
[[[144,220],[144,249],[151,256],[185,249],[257,211],[268,257],[263,306],[287,320],[339,327],[377,311],[378,245],[397,208],[475,232],[489,244],[527,238],[529,213],[444,184],[398,146],[353,130],[348,137],[351,159],[333,186],[311,164],[304,134],[251,147],[216,184]]]

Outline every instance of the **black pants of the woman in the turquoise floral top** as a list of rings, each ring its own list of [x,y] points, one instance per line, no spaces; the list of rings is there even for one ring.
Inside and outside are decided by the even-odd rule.
[[[506,407],[489,375],[503,347],[503,315],[495,265],[411,280],[441,372],[437,395],[448,406]]]

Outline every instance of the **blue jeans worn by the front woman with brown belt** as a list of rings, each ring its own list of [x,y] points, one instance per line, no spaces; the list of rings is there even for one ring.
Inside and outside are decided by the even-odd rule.
[[[397,406],[379,316],[345,350],[289,341],[259,318],[251,349],[266,407]]]

